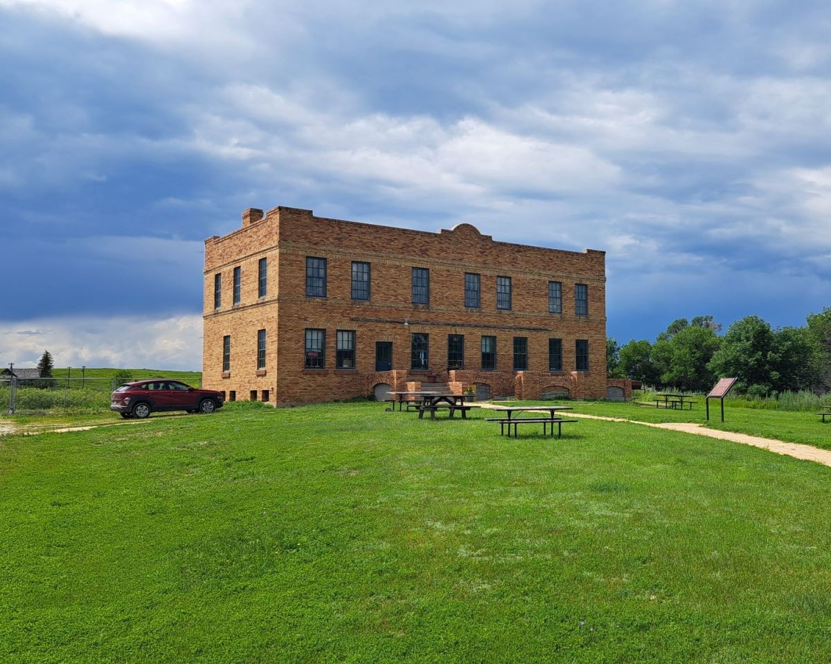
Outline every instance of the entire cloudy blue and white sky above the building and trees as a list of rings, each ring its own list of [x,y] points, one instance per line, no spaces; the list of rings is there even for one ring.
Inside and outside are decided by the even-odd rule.
[[[831,305],[828,2],[0,0],[0,363],[198,369],[245,207],[607,251],[608,332]]]

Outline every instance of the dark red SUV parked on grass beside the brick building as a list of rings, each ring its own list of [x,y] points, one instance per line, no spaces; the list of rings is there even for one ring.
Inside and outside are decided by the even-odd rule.
[[[110,410],[121,413],[121,417],[143,419],[163,410],[213,413],[224,402],[223,394],[215,389],[196,389],[178,380],[154,378],[121,385],[110,397]]]

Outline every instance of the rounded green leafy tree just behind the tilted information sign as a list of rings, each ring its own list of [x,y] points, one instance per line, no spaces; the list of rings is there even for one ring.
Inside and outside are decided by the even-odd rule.
[[[730,325],[710,369],[721,378],[738,378],[736,388],[741,392],[766,394],[779,383],[774,341],[769,323],[759,316],[745,316]]]

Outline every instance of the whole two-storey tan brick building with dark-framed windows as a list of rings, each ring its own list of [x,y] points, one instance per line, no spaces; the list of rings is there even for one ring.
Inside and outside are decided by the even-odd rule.
[[[421,382],[606,397],[605,254],[249,208],[205,241],[203,381],[311,403]]]

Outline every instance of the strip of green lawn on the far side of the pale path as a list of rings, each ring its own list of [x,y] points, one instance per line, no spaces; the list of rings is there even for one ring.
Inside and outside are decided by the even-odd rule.
[[[787,442],[802,442],[814,447],[831,450],[831,422],[823,423],[818,415],[810,412],[761,410],[758,408],[725,408],[725,422],[721,422],[718,402],[710,404],[710,422],[706,421],[705,408],[697,403],[692,410],[673,410],[638,406],[635,403],[572,402],[576,413],[588,413],[606,417],[623,417],[639,422],[701,422],[706,426],[747,433],[750,436],[773,438]]]

